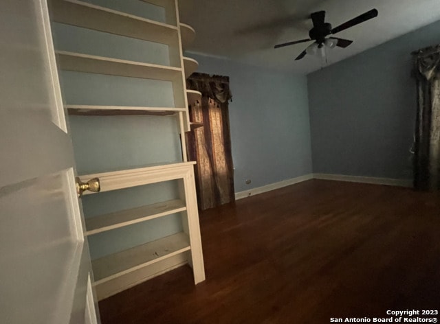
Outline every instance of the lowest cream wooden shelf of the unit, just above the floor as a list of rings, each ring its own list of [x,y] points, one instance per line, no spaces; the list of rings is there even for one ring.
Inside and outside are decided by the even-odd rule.
[[[151,264],[189,250],[188,235],[181,232],[96,259],[91,262],[94,269],[95,285],[151,266]]]

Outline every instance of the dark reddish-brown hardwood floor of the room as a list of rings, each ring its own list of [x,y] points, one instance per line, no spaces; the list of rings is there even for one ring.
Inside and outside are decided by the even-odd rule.
[[[440,311],[440,194],[312,180],[200,213],[184,266],[99,303],[111,323],[329,323]]]

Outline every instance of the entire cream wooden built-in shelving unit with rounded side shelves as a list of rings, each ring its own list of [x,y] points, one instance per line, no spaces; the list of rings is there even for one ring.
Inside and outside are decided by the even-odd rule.
[[[142,1],[142,0],[140,0]],[[195,283],[205,279],[195,194],[194,162],[187,162],[184,132],[190,125],[188,104],[200,98],[197,91],[186,91],[185,79],[197,61],[184,58],[181,44],[195,37],[192,27],[179,23],[177,0],[143,0],[162,6],[166,23],[144,19],[78,0],[50,0],[52,21],[90,30],[137,38],[168,45],[169,66],[94,56],[71,51],[56,51],[58,65],[66,71],[98,73],[109,76],[164,80],[173,84],[174,107],[96,106],[67,104],[72,115],[177,115],[180,130],[181,163],[161,163],[129,170],[115,170],[80,176],[81,181],[100,179],[100,192],[137,187],[164,181],[177,181],[179,198],[142,207],[106,213],[85,221],[85,235],[107,235],[115,229],[135,226],[155,218],[179,214],[183,231],[124,251],[116,251],[92,262],[98,299],[104,299],[137,283],[160,275],[182,264],[190,264]],[[117,117],[115,117],[117,118]],[[199,125],[197,125],[199,126]],[[148,141],[148,139],[146,139]],[[85,192],[85,194],[92,194]],[[99,194],[99,193],[96,193]]]

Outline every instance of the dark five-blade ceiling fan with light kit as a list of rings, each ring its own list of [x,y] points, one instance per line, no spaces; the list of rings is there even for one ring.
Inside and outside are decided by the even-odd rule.
[[[307,39],[302,40],[296,40],[289,43],[283,43],[275,45],[274,48],[280,48],[285,47],[289,45],[299,44],[299,43],[305,43],[309,42],[310,40],[315,40],[315,42],[307,49],[305,49],[295,60],[300,60],[303,58],[306,54],[315,54],[318,49],[323,49],[324,46],[333,48],[333,47],[348,47],[353,43],[353,40],[343,39],[343,38],[337,38],[337,37],[328,37],[329,35],[337,34],[338,32],[342,32],[342,30],[347,30],[347,28],[353,27],[355,25],[358,25],[360,23],[364,23],[364,21],[368,21],[370,19],[373,19],[377,17],[377,9],[372,9],[370,11],[365,12],[364,14],[361,14],[360,16],[357,16],[346,23],[343,23],[342,25],[339,25],[338,27],[332,28],[331,24],[325,23],[325,11],[318,11],[314,12],[310,15],[311,21],[314,23],[314,27],[309,31],[309,37]]]

